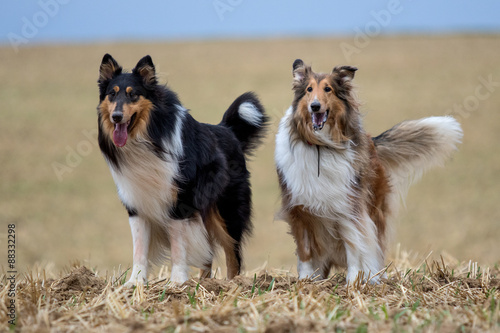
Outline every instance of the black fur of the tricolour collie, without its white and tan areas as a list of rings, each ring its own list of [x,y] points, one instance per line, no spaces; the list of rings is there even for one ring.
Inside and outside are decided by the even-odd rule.
[[[179,189],[177,202],[172,207],[165,206],[165,210],[174,219],[186,219],[197,212],[205,218],[209,212],[218,210],[227,232],[235,240],[234,251],[241,264],[241,242],[252,229],[250,174],[245,155],[251,155],[258,146],[269,121],[256,95],[247,92],[238,97],[220,124],[202,124],[181,107],[174,92],[158,84],[149,56],[141,59],[132,73],[122,73],[122,68],[109,55],[103,58],[101,72],[103,68],[105,73],[101,73],[98,81],[100,103],[114,85],[119,85],[132,86],[153,104],[147,122],[150,143],[144,144],[147,145],[145,149],[154,151],[158,158],[164,159],[170,153],[165,142],[173,140],[176,122],[183,122],[183,153],[177,157],[178,174],[173,175]],[[251,103],[261,114],[259,126],[240,117],[238,110],[242,103]],[[120,148],[104,133],[99,111],[98,118],[99,146],[110,167],[119,172],[124,162],[132,162],[123,160],[125,156]],[[141,214],[133,203],[126,208],[130,216]]]

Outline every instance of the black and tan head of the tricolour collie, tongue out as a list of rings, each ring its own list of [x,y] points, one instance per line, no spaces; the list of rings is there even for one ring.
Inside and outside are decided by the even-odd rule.
[[[100,130],[123,147],[127,139],[146,136],[151,101],[157,86],[155,67],[150,56],[145,56],[132,73],[122,73],[122,67],[109,54],[104,55],[99,68]]]

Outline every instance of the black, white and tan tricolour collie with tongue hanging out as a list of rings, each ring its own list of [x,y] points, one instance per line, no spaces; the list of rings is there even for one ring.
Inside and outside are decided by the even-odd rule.
[[[127,285],[145,282],[149,262],[168,254],[171,281],[186,281],[189,266],[209,277],[218,245],[228,277],[239,274],[242,242],[252,229],[245,158],[268,123],[257,97],[245,93],[219,125],[201,124],[157,82],[150,56],[124,73],[106,54],[99,74],[99,147],[128,211],[134,244]]]

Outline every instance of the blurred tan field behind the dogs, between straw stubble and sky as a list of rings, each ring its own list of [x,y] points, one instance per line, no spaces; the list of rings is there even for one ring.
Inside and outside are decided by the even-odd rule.
[[[202,122],[218,123],[239,94],[261,98],[273,125],[250,163],[254,236],[246,268],[295,271],[287,225],[275,221],[279,189],[274,135],[291,99],[296,58],[316,71],[359,68],[355,82],[366,129],[373,135],[405,119],[444,115],[474,100],[480,77],[500,82],[500,36],[379,37],[349,63],[345,39],[271,39],[0,48],[0,230],[17,230],[17,266],[62,268],[81,261],[99,270],[132,263],[127,214],[96,142],[96,80],[104,53],[125,68],[153,57],[161,82]],[[500,260],[500,83],[488,97],[455,114],[464,141],[453,160],[410,189],[397,221],[400,248],[425,258],[447,253],[460,261]],[[472,96],[472,97],[471,97]],[[465,108],[464,108],[465,109]],[[90,139],[88,133],[91,133]],[[93,137],[92,137],[93,135]],[[71,172],[58,179],[54,163]],[[85,155],[85,156],[84,156]],[[396,245],[394,246],[394,248]],[[222,262],[222,261],[220,261]]]

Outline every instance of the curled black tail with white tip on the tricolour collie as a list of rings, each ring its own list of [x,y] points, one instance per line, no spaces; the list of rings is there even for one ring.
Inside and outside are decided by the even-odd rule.
[[[221,125],[229,127],[241,143],[245,155],[251,155],[266,134],[269,118],[257,96],[246,92],[229,106]]]

